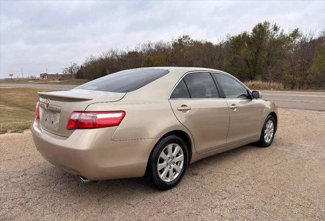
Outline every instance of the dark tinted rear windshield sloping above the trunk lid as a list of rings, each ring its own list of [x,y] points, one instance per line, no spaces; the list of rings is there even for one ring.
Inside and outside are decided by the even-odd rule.
[[[168,70],[161,69],[132,69],[119,71],[92,80],[76,89],[126,93],[135,91],[168,73]]]

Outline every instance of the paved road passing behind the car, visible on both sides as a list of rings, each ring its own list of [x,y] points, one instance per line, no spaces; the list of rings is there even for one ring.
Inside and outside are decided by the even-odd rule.
[[[75,85],[0,84],[0,87],[39,88],[70,90]],[[263,98],[273,101],[278,107],[325,111],[325,92],[262,91]]]

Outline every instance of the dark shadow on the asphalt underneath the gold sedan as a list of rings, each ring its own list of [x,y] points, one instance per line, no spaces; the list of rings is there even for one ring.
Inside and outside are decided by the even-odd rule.
[[[200,173],[200,170],[202,170],[204,167],[207,167],[207,165],[209,165],[209,167],[212,166],[219,168],[220,163],[227,163],[227,161],[231,162],[233,160],[233,157],[238,157],[238,155],[241,154],[247,154],[247,151],[255,148],[257,147],[253,144],[250,144],[194,162],[187,168],[187,173],[185,173],[185,176],[183,178],[184,180],[181,183],[184,184],[184,182],[188,182],[190,180],[189,176]],[[124,196],[126,199],[130,199],[133,196],[135,197],[139,195],[139,192],[149,195],[155,192],[161,192],[161,190],[150,186],[144,177],[101,180],[99,182],[82,183],[77,176],[67,174],[56,168],[52,169],[53,170],[51,170],[51,176],[60,177],[60,179],[57,179],[55,181],[58,183],[61,182],[59,186],[64,189],[78,189],[80,190],[77,191],[79,195],[88,198],[98,199],[101,196],[103,197],[103,194],[106,192],[109,193],[111,197],[114,197],[112,195],[119,197]],[[58,185],[56,184],[56,186]]]

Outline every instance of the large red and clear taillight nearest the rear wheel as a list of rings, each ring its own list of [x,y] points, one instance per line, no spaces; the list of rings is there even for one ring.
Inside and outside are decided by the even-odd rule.
[[[125,116],[123,111],[112,112],[73,112],[67,130],[94,129],[118,126]]]

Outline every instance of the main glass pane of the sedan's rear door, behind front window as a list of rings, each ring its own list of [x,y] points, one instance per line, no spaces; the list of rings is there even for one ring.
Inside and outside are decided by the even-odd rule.
[[[189,73],[184,77],[191,98],[218,98],[214,81],[208,72]]]

